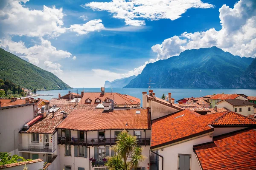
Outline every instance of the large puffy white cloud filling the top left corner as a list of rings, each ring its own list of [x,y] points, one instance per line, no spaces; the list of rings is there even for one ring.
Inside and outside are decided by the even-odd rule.
[[[62,8],[43,7],[43,10],[30,10],[22,5],[28,0],[8,0],[0,10],[0,25],[3,34],[42,37],[58,36],[66,31],[63,28]]]

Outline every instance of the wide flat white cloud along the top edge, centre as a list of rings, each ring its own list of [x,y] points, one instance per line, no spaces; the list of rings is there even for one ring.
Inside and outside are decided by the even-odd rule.
[[[145,20],[176,20],[189,8],[213,8],[201,0],[112,0],[82,5],[98,11],[108,11],[114,18],[124,19],[126,25],[143,26]],[[142,20],[137,20],[142,19]]]

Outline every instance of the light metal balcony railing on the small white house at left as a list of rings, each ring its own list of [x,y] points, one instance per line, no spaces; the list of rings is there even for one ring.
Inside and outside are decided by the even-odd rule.
[[[53,153],[52,146],[19,144],[19,151]]]

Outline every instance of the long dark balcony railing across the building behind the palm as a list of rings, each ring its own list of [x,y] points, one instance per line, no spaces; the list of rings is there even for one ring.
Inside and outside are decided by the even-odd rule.
[[[58,144],[72,144],[79,146],[105,146],[116,144],[115,138],[105,138],[105,139],[79,139],[79,138],[69,138],[69,137],[58,137]],[[139,146],[150,145],[150,138],[137,139],[137,144]]]

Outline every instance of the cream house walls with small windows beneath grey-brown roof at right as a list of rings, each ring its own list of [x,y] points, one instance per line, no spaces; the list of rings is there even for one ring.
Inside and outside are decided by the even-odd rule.
[[[247,106],[233,106],[227,101],[219,102],[217,105],[218,108],[227,108],[230,111],[242,114],[244,116],[254,114],[254,107],[253,105]],[[250,109],[249,109],[250,108]]]

